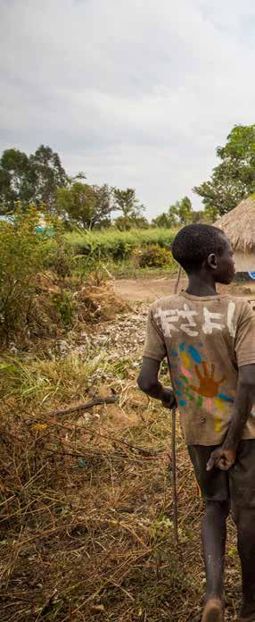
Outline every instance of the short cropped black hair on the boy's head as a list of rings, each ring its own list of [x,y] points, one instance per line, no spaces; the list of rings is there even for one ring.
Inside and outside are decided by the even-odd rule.
[[[201,223],[188,224],[178,231],[172,254],[186,273],[192,273],[199,270],[210,253],[220,256],[225,248],[226,236],[218,227]]]

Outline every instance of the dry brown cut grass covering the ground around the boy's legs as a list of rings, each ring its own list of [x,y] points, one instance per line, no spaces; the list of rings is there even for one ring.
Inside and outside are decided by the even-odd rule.
[[[201,619],[202,500],[178,431],[177,548],[170,414],[136,389],[141,348],[134,339],[131,352],[123,324],[112,327],[119,350],[94,341],[87,356],[9,355],[0,366],[1,622]],[[99,330],[111,342],[111,325]],[[113,405],[55,414],[112,391]],[[234,620],[240,576],[229,527]]]

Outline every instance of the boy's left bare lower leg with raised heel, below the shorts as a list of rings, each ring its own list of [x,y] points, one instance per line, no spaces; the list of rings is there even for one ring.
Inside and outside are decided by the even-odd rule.
[[[206,501],[202,517],[202,547],[206,572],[204,622],[223,620],[224,558],[228,501]]]

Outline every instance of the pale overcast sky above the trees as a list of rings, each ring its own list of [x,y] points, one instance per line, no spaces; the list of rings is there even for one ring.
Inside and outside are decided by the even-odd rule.
[[[0,0],[0,152],[57,151],[155,217],[255,122],[254,0]]]

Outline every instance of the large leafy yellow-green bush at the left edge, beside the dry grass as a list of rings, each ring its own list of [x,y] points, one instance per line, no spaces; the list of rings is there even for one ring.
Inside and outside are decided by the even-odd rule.
[[[36,206],[20,208],[12,222],[0,221],[0,343],[25,343],[75,321],[75,282],[67,282],[76,263],[62,223],[47,218],[38,232]],[[48,235],[48,231],[51,235]],[[53,233],[53,234],[52,234]],[[44,284],[45,282],[45,284]]]

